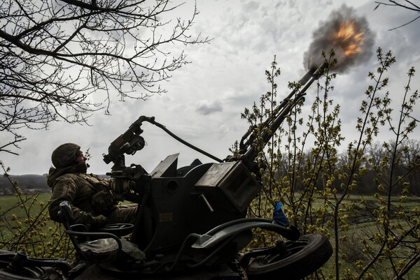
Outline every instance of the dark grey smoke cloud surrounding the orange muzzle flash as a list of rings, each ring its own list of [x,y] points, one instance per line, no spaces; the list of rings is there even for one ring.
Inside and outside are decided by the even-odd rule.
[[[353,22],[353,30],[356,33],[363,33],[363,39],[360,41],[360,51],[346,55],[344,51],[349,42],[345,40],[337,43],[333,34],[337,34],[340,25],[343,22]],[[365,17],[358,17],[355,10],[343,5],[339,10],[332,11],[327,21],[321,21],[318,29],[312,34],[314,40],[309,45],[309,50],[304,53],[304,67],[309,69],[316,68],[323,63],[322,51],[328,53],[331,49],[335,50],[337,64],[333,67],[337,73],[343,73],[354,64],[360,64],[367,61],[372,56],[372,46],[374,43],[374,34],[370,31]]]

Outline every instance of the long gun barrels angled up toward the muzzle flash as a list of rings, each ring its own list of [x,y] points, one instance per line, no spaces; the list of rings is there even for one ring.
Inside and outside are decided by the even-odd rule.
[[[279,129],[290,111],[293,110],[295,105],[304,98],[307,89],[309,89],[311,84],[321,77],[327,67],[328,63],[325,62],[319,68],[309,70],[299,80],[299,84],[302,87],[300,87],[300,89],[293,89],[293,91],[291,91],[290,94],[281,101],[280,105],[274,109],[274,115],[269,116],[268,119],[263,122],[262,133],[258,136],[258,138],[261,139],[260,149],[267,145],[267,142],[269,142],[270,138],[272,138],[274,132]],[[242,136],[241,142],[239,143],[241,161],[243,161],[248,168],[252,167],[253,161],[258,156],[259,152],[255,145],[253,145],[256,138],[255,133],[253,133],[254,130],[255,127],[251,126],[244,136]]]

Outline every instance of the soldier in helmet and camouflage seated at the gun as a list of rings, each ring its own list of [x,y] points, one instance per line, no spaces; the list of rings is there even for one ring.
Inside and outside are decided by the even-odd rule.
[[[59,203],[70,202],[73,223],[90,224],[100,228],[110,223],[134,223],[137,204],[118,205],[110,187],[111,179],[86,174],[89,165],[80,146],[66,143],[52,152],[48,186],[52,196],[48,210],[50,218],[60,221]]]

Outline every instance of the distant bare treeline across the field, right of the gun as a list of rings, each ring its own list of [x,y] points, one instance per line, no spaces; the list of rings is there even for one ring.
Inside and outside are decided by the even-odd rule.
[[[357,177],[353,178],[356,180],[356,187],[349,190],[351,194],[358,195],[372,195],[374,193],[381,193],[382,191],[388,193],[387,189],[384,189],[386,185],[393,186],[391,193],[400,195],[402,193],[411,194],[414,196],[420,196],[420,141],[419,140],[405,140],[402,148],[398,149],[395,158],[393,158],[393,148],[395,142],[375,142],[365,150],[363,159],[360,161],[359,170],[360,172]],[[283,154],[279,173],[277,176],[282,177],[290,173],[290,161],[288,160],[287,154]],[[338,173],[344,174],[349,172],[346,166],[351,161],[351,156],[348,152],[342,152],[338,154],[336,160],[336,167],[339,170]],[[315,161],[309,152],[302,153],[300,159],[302,163]],[[392,164],[393,162],[393,164]],[[302,168],[299,170],[299,178],[296,182],[296,189],[298,191],[304,190],[304,184],[302,178],[305,178],[307,174],[307,165],[302,164]],[[310,166],[310,164],[309,164]],[[392,171],[391,171],[392,168]],[[332,168],[333,169],[333,168]],[[391,172],[393,174],[391,178]],[[335,184],[332,189],[337,188],[339,192],[339,186],[341,183],[346,183],[345,180],[339,180],[336,178]],[[323,175],[319,176],[316,181],[316,189],[319,191],[325,190],[327,182],[323,179]],[[407,190],[405,190],[407,188]]]

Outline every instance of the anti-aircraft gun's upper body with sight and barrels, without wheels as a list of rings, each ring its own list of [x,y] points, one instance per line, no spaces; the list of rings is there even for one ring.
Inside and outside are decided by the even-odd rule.
[[[301,87],[291,91],[274,110],[274,115],[263,123],[262,133],[258,135],[263,144],[269,142],[272,133],[281,126],[295,105],[302,101],[307,89],[320,78],[327,67],[328,64],[325,63],[320,68],[308,71],[299,80]],[[177,168],[179,154],[173,154],[167,156],[150,173],[141,165],[126,166],[125,154],[132,155],[144,148],[141,126],[145,121],[162,128],[176,140],[209,156],[216,163],[201,163],[196,160],[189,166]],[[253,127],[250,127],[241,138],[239,156],[228,156],[221,160],[177,137],[155,121],[155,117],[141,116],[134,121],[125,133],[111,143],[108,154],[104,154],[106,163],[113,162],[109,173],[114,179],[113,191],[120,200],[139,203],[137,222],[130,241],[137,244],[147,256],[160,256],[167,258],[169,262],[177,258],[176,256],[181,256],[180,251],[191,236],[194,237],[193,240],[198,239],[193,248],[204,248],[211,242],[228,240],[235,230],[239,233],[247,226],[253,228],[255,223],[260,223],[262,228],[281,231],[281,235],[290,240],[297,240],[300,233],[295,228],[277,226],[273,229],[274,226],[260,219],[247,219],[253,225],[237,222],[244,219],[248,205],[260,191],[260,182],[251,175],[258,155],[258,150],[253,145],[255,138]],[[229,229],[225,230],[225,236],[228,237],[211,236],[221,224],[228,225]],[[249,238],[251,237],[246,234],[239,238],[232,253],[237,253],[239,247],[249,242]],[[228,258],[230,253],[224,252],[223,255]],[[167,270],[174,269],[175,266],[176,264],[171,268],[167,267]]]

